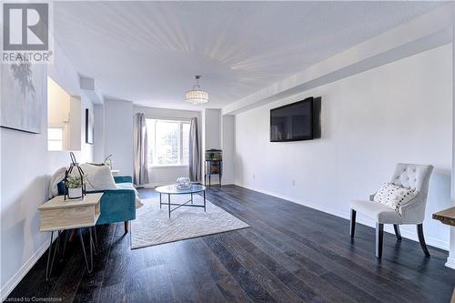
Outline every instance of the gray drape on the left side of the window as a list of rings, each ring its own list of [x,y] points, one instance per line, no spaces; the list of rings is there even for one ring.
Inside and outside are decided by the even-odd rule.
[[[135,116],[135,163],[134,183],[144,185],[148,183],[148,162],[147,162],[147,124],[144,114]]]

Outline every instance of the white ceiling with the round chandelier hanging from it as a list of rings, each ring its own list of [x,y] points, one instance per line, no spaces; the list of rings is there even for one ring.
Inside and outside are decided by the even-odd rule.
[[[222,107],[436,8],[435,2],[56,2],[56,41],[105,96]]]

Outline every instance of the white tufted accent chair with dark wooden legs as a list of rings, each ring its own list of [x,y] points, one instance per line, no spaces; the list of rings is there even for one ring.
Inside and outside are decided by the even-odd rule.
[[[381,258],[384,224],[393,224],[395,235],[399,240],[401,239],[399,225],[416,224],[420,246],[425,256],[430,257],[425,244],[425,238],[423,237],[422,222],[425,217],[428,187],[432,171],[432,166],[407,163],[397,164],[390,183],[417,191],[417,196],[412,198],[407,204],[399,207],[399,211],[395,211],[382,203],[374,202],[374,195],[369,197],[369,201],[350,201],[350,237],[354,237],[357,212],[376,220],[376,257]]]

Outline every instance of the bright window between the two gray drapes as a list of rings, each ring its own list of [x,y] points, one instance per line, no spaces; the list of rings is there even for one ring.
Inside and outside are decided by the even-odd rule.
[[[189,121],[147,119],[150,166],[187,166]]]

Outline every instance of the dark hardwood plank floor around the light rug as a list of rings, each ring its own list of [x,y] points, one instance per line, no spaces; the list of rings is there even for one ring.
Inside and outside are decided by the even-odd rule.
[[[141,197],[157,195],[141,190]],[[100,252],[87,274],[79,242],[45,281],[45,257],[9,298],[76,302],[449,302],[455,270],[433,247],[242,187],[211,187],[207,199],[251,227],[131,250],[123,223],[97,228]],[[133,231],[134,232],[134,231]]]

